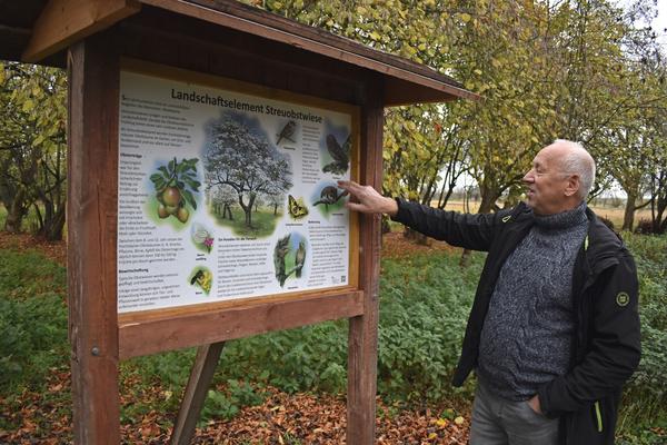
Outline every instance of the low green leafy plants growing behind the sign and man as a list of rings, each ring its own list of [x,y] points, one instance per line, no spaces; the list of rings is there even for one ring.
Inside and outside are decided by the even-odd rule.
[[[626,387],[618,438],[624,445],[655,444],[667,439],[667,237],[624,237],[639,270],[644,350]],[[464,270],[458,260],[449,251],[382,260],[378,393],[392,407],[471,400],[474,383],[455,389],[450,377],[484,255],[474,254]],[[12,406],[26,388],[43,388],[50,373],[69,366],[64,284],[64,268],[38,253],[0,251],[0,392],[8,395],[2,404]],[[260,404],[269,385],[290,393],[345,392],[347,329],[338,320],[229,342],[202,422]],[[137,399],[123,405],[122,422],[150,411],[176,413],[193,358],[195,349],[186,349],[122,363],[122,390]],[[159,397],[140,397],[156,386]],[[44,397],[63,404],[69,393]],[[12,427],[2,422],[0,428]]]

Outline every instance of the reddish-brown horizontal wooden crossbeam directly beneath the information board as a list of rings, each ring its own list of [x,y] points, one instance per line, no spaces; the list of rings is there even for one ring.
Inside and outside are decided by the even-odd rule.
[[[289,329],[364,313],[364,293],[327,294],[122,323],[120,358]]]

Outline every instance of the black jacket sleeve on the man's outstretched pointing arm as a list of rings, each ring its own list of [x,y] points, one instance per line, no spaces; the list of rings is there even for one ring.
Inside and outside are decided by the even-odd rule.
[[[511,210],[495,214],[459,214],[397,199],[398,214],[391,219],[428,237],[456,247],[488,251],[498,221]]]

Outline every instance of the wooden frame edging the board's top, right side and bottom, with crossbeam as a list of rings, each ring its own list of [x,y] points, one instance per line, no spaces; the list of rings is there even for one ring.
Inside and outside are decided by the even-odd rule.
[[[359,179],[358,107],[135,59],[121,59],[120,69],[347,113],[351,117],[351,134],[355,135],[351,178]],[[125,359],[360,315],[358,240],[358,215],[350,214],[349,284],[346,286],[120,314],[119,356]]]

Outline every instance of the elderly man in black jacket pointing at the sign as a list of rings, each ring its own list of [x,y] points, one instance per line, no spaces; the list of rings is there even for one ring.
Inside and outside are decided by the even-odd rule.
[[[586,206],[595,162],[576,142],[541,149],[526,202],[461,215],[341,181],[352,210],[389,215],[454,246],[488,251],[454,374],[478,377],[470,443],[613,444],[623,384],[639,362],[637,273]]]

